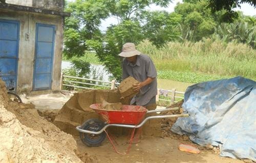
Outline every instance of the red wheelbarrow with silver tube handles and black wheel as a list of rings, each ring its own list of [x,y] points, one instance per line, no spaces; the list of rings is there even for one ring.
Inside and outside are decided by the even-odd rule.
[[[122,105],[120,111],[103,110],[101,103],[92,104],[90,106],[96,113],[98,113],[104,122],[98,119],[89,119],[84,122],[81,126],[77,126],[76,129],[79,131],[81,141],[89,147],[98,147],[108,137],[114,150],[118,154],[127,154],[131,148],[133,142],[134,133],[136,128],[140,128],[146,121],[150,119],[160,118],[174,118],[174,117],[188,117],[188,114],[177,114],[177,115],[159,115],[159,116],[147,116],[146,114],[163,112],[163,111],[175,111],[179,110],[178,107],[165,108],[161,110],[148,111],[145,107],[138,105]],[[106,128],[110,126],[133,128],[130,143],[125,153],[118,152],[110,133],[106,131]]]

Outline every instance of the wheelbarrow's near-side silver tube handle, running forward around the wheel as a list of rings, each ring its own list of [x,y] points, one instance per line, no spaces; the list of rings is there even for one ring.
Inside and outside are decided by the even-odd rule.
[[[110,126],[115,126],[115,127],[127,127],[127,128],[140,128],[143,124],[146,123],[146,121],[150,120],[150,119],[160,119],[160,118],[174,118],[174,117],[188,117],[188,114],[175,114],[175,115],[163,115],[163,116],[150,116],[145,118],[140,124],[138,125],[129,125],[129,124],[107,124],[105,125],[101,130],[99,131],[90,131],[90,130],[84,130],[81,129],[81,126],[77,126],[76,129],[79,132],[83,132],[83,133],[90,133],[90,134],[100,134],[101,132],[103,132],[106,128],[110,127]]]

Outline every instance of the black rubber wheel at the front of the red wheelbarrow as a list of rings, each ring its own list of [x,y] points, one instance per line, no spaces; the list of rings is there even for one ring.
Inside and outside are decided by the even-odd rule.
[[[99,131],[105,126],[104,122],[98,119],[89,119],[82,124],[81,129],[90,131]],[[98,147],[106,138],[106,133],[101,132],[100,134],[90,134],[79,132],[80,139],[83,144],[88,147]]]

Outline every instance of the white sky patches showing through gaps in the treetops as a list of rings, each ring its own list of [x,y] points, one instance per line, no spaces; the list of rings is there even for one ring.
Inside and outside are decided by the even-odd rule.
[[[75,0],[68,0],[68,2],[72,2],[72,1],[75,1]],[[173,12],[174,7],[176,6],[177,3],[182,3],[182,0],[174,0],[173,3],[170,3],[167,8],[162,8],[162,7],[159,7],[156,5],[151,5],[150,7],[147,8],[147,10],[150,10],[150,11],[165,10],[168,12]],[[252,6],[250,6],[247,3],[241,4],[241,8],[236,8],[234,10],[242,11],[244,15],[248,15],[248,16],[256,15],[256,9],[254,9]],[[108,19],[105,19],[104,21],[102,21],[102,23],[100,25],[100,30],[105,31],[108,26],[110,26],[111,24],[117,24],[117,23],[118,22],[117,22],[116,18],[109,17]]]

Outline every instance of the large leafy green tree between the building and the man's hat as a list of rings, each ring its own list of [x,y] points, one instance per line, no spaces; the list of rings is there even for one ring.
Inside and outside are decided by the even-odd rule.
[[[118,53],[122,45],[125,42],[136,44],[147,37],[153,38],[154,36],[149,36],[148,32],[143,32],[148,30],[143,25],[154,24],[154,19],[142,20],[145,9],[152,4],[166,7],[169,2],[170,0],[76,0],[69,3],[66,11],[71,12],[71,17],[66,18],[64,53],[67,57],[79,57],[86,51],[95,50],[97,57],[113,77],[120,80],[122,71]],[[154,17],[154,14],[151,15]],[[115,17],[119,23],[111,25],[104,34],[99,30],[99,25],[101,20],[110,16]],[[163,17],[164,22],[172,20],[177,21],[172,16]],[[144,21],[144,24],[141,23]],[[173,26],[168,26],[164,31],[169,32],[172,28]],[[159,45],[169,40],[165,38],[159,41],[160,35],[162,34],[155,35],[158,37],[152,39],[153,43]]]

